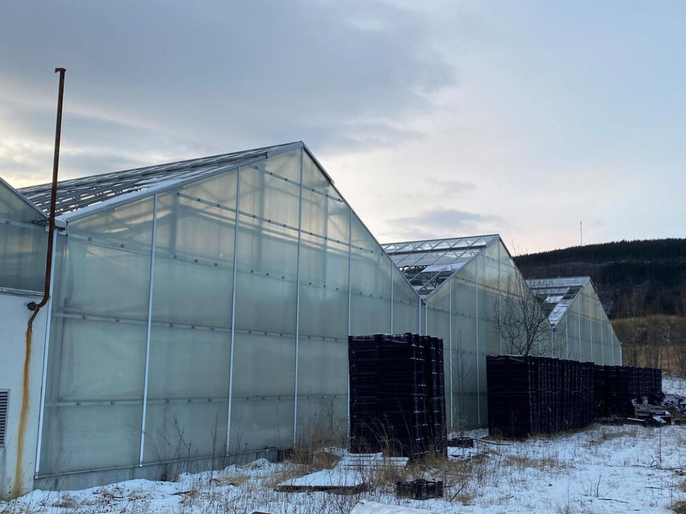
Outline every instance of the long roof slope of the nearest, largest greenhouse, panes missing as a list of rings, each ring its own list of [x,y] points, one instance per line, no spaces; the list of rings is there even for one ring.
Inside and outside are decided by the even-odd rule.
[[[269,155],[278,155],[295,148],[304,148],[304,143],[286,143],[283,145],[267,146],[232,152],[200,159],[158,164],[113,173],[102,173],[71,180],[61,180],[57,183],[57,215],[73,213],[77,210],[102,204],[124,195],[132,195],[155,187],[176,185],[182,182],[198,180],[212,176],[221,171],[248,164]],[[307,150],[308,153],[309,150]],[[310,153],[311,155],[311,153]],[[311,156],[314,159],[314,156]],[[320,166],[321,169],[321,166]],[[326,175],[325,171],[321,171]],[[328,180],[330,178],[327,175]],[[50,184],[22,187],[20,193],[44,212],[50,208]]]

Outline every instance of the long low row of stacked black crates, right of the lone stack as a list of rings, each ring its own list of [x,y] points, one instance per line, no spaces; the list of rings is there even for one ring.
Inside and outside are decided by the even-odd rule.
[[[486,380],[489,430],[514,438],[632,417],[632,400],[655,401],[662,389],[659,369],[522,355],[486,355]]]

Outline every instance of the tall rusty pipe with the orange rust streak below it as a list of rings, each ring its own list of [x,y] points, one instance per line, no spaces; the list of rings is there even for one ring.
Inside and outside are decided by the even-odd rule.
[[[26,329],[26,352],[24,357],[24,381],[22,387],[22,410],[19,416],[19,431],[17,436],[17,464],[15,466],[14,483],[12,485],[12,497],[18,497],[24,489],[24,440],[26,437],[26,425],[29,415],[29,368],[31,364],[31,338],[33,336],[34,320],[50,299],[50,281],[52,280],[52,245],[55,234],[55,203],[57,201],[57,168],[59,166],[59,139],[62,136],[62,100],[64,99],[64,73],[66,69],[55,68],[59,73],[59,93],[57,94],[57,122],[55,124],[55,156],[52,159],[52,190],[50,191],[50,217],[48,217],[48,252],[45,259],[45,285],[43,287],[43,299],[36,304],[31,301],[28,305],[32,310],[31,317]],[[45,387],[45,384],[43,384]]]

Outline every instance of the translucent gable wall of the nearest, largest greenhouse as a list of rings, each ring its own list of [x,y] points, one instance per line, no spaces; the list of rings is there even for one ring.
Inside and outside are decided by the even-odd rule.
[[[347,336],[419,298],[301,148],[57,237],[39,476],[289,448],[345,427]]]

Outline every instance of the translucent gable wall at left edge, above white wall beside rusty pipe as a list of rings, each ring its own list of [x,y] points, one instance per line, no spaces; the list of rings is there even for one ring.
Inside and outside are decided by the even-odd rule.
[[[45,216],[0,180],[0,287],[43,291],[48,233]]]

